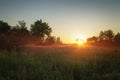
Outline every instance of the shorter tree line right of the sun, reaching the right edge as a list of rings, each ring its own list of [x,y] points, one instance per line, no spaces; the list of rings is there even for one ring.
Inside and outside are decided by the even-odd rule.
[[[87,43],[97,46],[119,46],[120,32],[115,34],[112,30],[101,31],[99,36],[93,36],[87,39]]]

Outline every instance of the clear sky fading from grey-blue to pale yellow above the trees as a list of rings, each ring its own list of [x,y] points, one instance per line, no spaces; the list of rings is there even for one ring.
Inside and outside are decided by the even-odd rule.
[[[101,30],[120,32],[120,0],[0,0],[0,20],[28,29],[42,19],[64,43],[75,36],[97,36]]]

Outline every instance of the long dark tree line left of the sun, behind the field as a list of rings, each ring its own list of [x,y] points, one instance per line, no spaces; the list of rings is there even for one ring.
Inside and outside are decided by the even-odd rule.
[[[60,37],[51,35],[52,28],[48,23],[37,20],[27,29],[24,20],[18,21],[16,26],[0,20],[0,49],[15,48],[18,46],[61,44]]]

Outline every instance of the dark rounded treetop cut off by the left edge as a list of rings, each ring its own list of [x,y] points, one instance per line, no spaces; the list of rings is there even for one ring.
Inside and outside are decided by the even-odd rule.
[[[0,34],[9,33],[10,30],[11,30],[11,27],[8,25],[7,22],[0,21]]]

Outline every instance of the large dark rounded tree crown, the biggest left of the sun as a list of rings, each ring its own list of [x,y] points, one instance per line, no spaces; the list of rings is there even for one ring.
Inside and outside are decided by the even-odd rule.
[[[46,22],[42,20],[37,20],[31,25],[31,34],[33,36],[44,38],[45,36],[50,36],[52,29]]]

